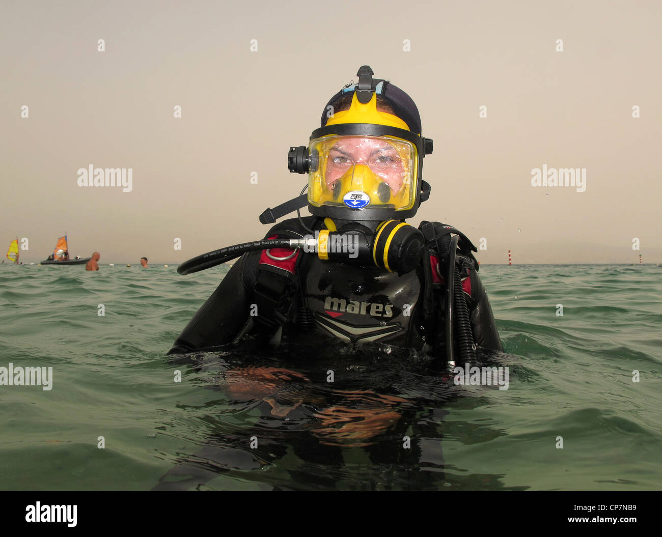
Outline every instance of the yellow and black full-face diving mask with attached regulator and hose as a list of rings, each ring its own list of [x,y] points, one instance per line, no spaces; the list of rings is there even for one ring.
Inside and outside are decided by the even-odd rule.
[[[419,265],[426,240],[403,220],[414,216],[430,195],[422,168],[423,157],[432,153],[432,140],[420,136],[418,109],[410,97],[372,75],[372,69],[363,65],[357,72],[359,82],[346,86],[325,106],[321,126],[310,134],[309,144],[290,147],[287,167],[292,173],[308,173],[308,194],[302,191],[260,215],[262,224],[273,224],[307,205],[311,214],[325,218],[326,229],[319,229],[317,238],[269,239],[209,252],[180,265],[180,274],[207,269],[267,245],[316,251],[320,259],[374,265],[399,274]],[[343,104],[342,110],[334,111],[347,95],[352,95],[350,108]],[[378,95],[382,110],[377,106]],[[397,114],[387,111],[388,107]],[[303,221],[301,225],[306,227]],[[352,251],[338,248],[339,244],[349,246],[350,239],[357,239]],[[266,253],[269,257],[268,249]]]

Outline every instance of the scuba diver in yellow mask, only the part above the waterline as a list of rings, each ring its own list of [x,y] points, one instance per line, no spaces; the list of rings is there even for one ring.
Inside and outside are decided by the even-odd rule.
[[[247,338],[318,349],[378,342],[451,366],[475,359],[477,347],[502,351],[476,247],[453,226],[405,222],[430,196],[422,168],[433,145],[416,104],[367,65],[357,76],[324,106],[308,146],[289,150],[289,171],[308,174],[307,194],[260,221],[306,205],[312,216],[180,265],[190,274],[243,254],[168,354]]]

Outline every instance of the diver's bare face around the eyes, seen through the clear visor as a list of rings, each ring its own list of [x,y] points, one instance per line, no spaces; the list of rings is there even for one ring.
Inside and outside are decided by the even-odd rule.
[[[395,147],[386,140],[360,137],[340,138],[329,149],[326,163],[326,186],[332,189],[334,183],[350,171],[355,164],[367,165],[375,175],[391,187],[394,195],[400,192],[405,163]]]

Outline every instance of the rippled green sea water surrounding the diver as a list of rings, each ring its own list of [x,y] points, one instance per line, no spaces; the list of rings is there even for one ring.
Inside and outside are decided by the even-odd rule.
[[[52,367],[0,386],[0,489],[662,488],[657,265],[481,266],[508,390],[340,348],[175,363],[227,267],[175,268],[0,266],[0,367]],[[252,365],[305,378],[228,393]]]

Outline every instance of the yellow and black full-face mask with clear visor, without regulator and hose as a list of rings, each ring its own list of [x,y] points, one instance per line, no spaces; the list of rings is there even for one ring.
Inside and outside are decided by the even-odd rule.
[[[417,132],[418,111],[404,92],[372,79],[367,65],[357,75],[359,83],[346,87],[326,107],[352,95],[350,108],[322,117],[308,147],[290,147],[287,166],[293,173],[308,173],[311,214],[354,222],[410,218],[430,192],[421,171],[432,140]],[[400,110],[415,130],[401,117],[378,109],[377,95],[385,103],[380,106]],[[268,222],[269,217],[260,220]]]

